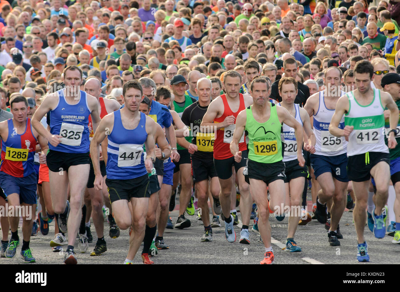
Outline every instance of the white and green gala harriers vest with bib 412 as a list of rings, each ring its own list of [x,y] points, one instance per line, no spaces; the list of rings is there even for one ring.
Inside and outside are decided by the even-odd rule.
[[[384,108],[380,100],[380,90],[374,89],[374,99],[369,105],[360,105],[354,98],[354,91],[347,93],[349,111],[344,116],[346,126],[354,126],[350,133],[347,156],[367,152],[389,153],[385,144]]]

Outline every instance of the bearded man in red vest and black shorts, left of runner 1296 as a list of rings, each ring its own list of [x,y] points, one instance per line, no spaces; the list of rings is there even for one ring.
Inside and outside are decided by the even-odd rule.
[[[242,76],[235,70],[229,70],[224,75],[224,86],[226,94],[214,99],[203,117],[201,127],[213,129],[215,132],[214,142],[214,165],[220,181],[220,202],[222,214],[225,217],[225,238],[228,242],[236,241],[236,233],[233,229],[234,217],[230,213],[231,192],[234,180],[232,179],[232,166],[235,167],[239,181],[240,190],[240,212],[242,214],[242,230],[240,231],[240,243],[250,244],[248,225],[252,207],[252,197],[249,185],[244,180],[243,169],[246,166],[247,146],[244,136],[239,142],[239,150],[242,151],[243,159],[235,161],[229,145],[232,142],[233,132],[236,127],[236,117],[253,103],[250,96],[244,96],[240,91]]]

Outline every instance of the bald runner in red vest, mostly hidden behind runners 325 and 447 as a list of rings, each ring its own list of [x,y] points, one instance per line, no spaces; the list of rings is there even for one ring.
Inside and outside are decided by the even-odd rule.
[[[99,107],[99,114],[100,118],[105,117],[108,113],[112,113],[113,111],[116,111],[120,108],[120,104],[114,100],[114,99],[106,99],[100,97],[101,94],[101,83],[100,81],[95,78],[89,78],[84,86],[84,90],[87,94],[90,94],[94,97],[96,97],[97,102],[98,102],[98,107]],[[89,125],[90,128],[92,129],[92,120],[89,118]],[[90,140],[93,137],[93,131],[90,133]],[[104,145],[103,145],[104,144]],[[100,152],[100,170],[102,173],[102,176],[104,177],[104,184],[105,184],[105,176],[106,176],[106,164],[105,161],[107,161],[107,138],[103,141],[102,143],[102,150],[103,152]],[[105,151],[104,151],[105,150]],[[102,156],[103,154],[103,156]],[[102,158],[103,157],[103,158]],[[96,229],[96,234],[97,234],[97,242],[96,246],[93,250],[93,252],[90,254],[91,256],[100,256],[107,250],[106,246],[106,241],[104,240],[104,217],[103,217],[103,196],[104,196],[104,203],[106,206],[110,209],[110,214],[112,214],[112,209],[111,209],[111,204],[110,204],[110,199],[108,198],[108,192],[107,192],[107,187],[103,187],[102,190],[96,191],[94,189],[94,169],[93,169],[93,164],[92,161],[90,160],[90,173],[89,173],[89,179],[86,187],[88,188],[88,197],[84,197],[84,201],[86,206],[92,205],[92,217],[93,217],[93,224],[94,228]],[[86,232],[90,232],[90,212],[87,212],[87,216],[85,219],[85,227],[86,227]],[[110,226],[111,230],[112,226]]]

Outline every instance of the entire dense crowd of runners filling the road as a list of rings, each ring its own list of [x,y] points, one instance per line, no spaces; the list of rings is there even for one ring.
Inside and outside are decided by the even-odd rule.
[[[297,226],[313,219],[340,246],[345,210],[358,262],[370,261],[368,230],[400,244],[400,2],[0,10],[0,207],[31,210],[20,229],[21,214],[0,216],[1,257],[40,263],[29,244],[42,234],[77,264],[90,243],[106,256],[106,239],[129,230],[124,264],[138,251],[154,264],[174,248],[166,228],[201,220],[199,241],[224,228],[228,242],[255,244],[254,232],[272,264],[270,216],[288,217],[286,249],[301,252]]]

